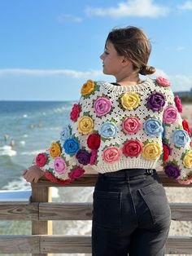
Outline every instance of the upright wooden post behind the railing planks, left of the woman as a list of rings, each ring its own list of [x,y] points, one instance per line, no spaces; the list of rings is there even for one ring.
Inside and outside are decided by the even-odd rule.
[[[51,188],[40,187],[32,183],[32,202],[51,202]],[[39,209],[39,207],[38,207]],[[39,211],[39,210],[38,210]],[[51,221],[33,221],[32,235],[52,235]],[[41,239],[39,241],[39,251],[41,251]],[[33,254],[33,256],[51,256],[52,254]]]

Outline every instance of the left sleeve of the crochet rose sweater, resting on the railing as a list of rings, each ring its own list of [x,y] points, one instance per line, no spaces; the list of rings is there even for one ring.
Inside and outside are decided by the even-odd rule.
[[[85,135],[93,129],[93,121],[90,117],[82,116],[82,108],[86,105],[86,91],[92,89],[94,91],[95,83],[91,80],[85,82],[81,88],[79,102],[72,106],[70,124],[60,132],[60,138],[51,143],[46,152],[39,153],[33,161],[51,181],[70,183],[85,173],[85,166],[91,161],[91,152],[85,150],[87,148]],[[86,126],[87,123],[89,126]]]

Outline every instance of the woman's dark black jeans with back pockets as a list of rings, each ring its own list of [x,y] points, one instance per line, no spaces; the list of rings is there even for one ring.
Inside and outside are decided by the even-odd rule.
[[[98,174],[94,189],[93,256],[163,256],[170,208],[159,176]]]

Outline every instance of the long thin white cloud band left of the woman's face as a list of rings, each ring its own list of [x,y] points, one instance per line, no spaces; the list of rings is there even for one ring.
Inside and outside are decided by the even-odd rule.
[[[102,70],[78,71],[72,69],[27,69],[27,68],[2,68],[0,76],[33,76],[33,77],[49,77],[49,76],[68,76],[73,78],[103,77]]]

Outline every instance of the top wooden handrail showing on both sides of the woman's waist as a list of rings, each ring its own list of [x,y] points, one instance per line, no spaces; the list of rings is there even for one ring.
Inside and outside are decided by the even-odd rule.
[[[81,179],[76,179],[72,183],[67,183],[64,187],[94,187],[98,174],[95,172],[91,172],[89,174],[85,174]],[[164,185],[164,187],[170,188],[192,188],[192,183],[190,185],[183,185],[177,183],[174,179],[169,179],[163,172],[159,172],[159,177]],[[33,183],[33,188],[41,188],[41,187],[63,187],[63,185],[59,183],[53,183],[45,177],[41,178],[38,183]]]

